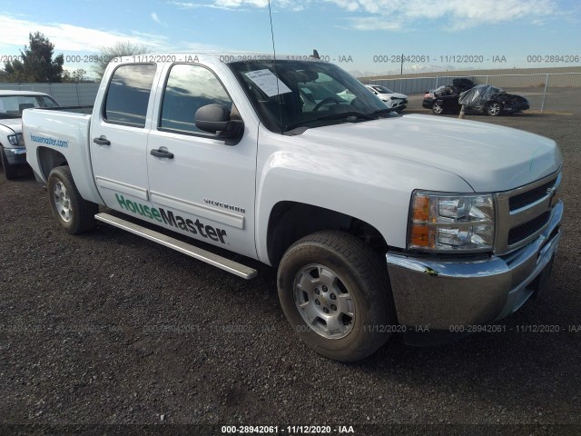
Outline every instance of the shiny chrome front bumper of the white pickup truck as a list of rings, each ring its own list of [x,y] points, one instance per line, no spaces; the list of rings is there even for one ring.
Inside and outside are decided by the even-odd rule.
[[[452,326],[482,325],[516,312],[535,292],[531,282],[556,253],[562,216],[559,202],[536,240],[502,257],[458,262],[387,253],[399,323],[449,331]]]

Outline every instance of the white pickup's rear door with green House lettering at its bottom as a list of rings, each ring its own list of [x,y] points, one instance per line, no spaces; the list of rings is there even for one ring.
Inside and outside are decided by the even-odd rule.
[[[118,66],[101,99],[102,107],[94,110],[89,137],[95,183],[104,203],[147,219],[152,214],[147,135],[158,78],[156,64]]]

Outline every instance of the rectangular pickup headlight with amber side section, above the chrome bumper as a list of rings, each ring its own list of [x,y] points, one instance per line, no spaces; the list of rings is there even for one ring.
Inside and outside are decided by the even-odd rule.
[[[494,243],[491,194],[416,191],[411,198],[408,248],[429,251],[487,251]]]

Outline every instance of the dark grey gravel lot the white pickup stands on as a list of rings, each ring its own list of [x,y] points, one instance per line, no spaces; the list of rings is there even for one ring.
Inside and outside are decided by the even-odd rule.
[[[565,236],[551,288],[501,322],[511,332],[435,348],[396,337],[349,365],[294,337],[274,270],[251,263],[260,275],[245,282],[105,224],[68,235],[30,173],[14,182],[1,176],[0,421],[43,424],[1,429],[133,423],[201,434],[172,424],[245,423],[380,424],[355,434],[384,434],[388,425],[398,434],[477,432],[443,424],[502,424],[482,434],[581,431],[581,226],[573,214],[581,210],[579,119],[467,118],[544,134],[561,146]],[[516,331],[538,325],[559,331]]]

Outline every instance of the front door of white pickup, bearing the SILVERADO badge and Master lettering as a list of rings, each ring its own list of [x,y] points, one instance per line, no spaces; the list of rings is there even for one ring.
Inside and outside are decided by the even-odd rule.
[[[257,133],[230,144],[198,129],[196,111],[222,104],[241,118],[217,74],[200,64],[173,64],[148,139],[151,200],[162,226],[253,258]]]

